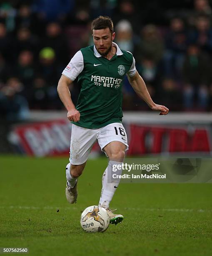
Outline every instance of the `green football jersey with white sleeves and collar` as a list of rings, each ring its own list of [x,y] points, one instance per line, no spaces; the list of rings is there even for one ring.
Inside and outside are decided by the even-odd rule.
[[[81,85],[76,109],[80,120],[72,122],[84,128],[101,128],[110,123],[122,122],[122,81],[125,74],[134,76],[135,59],[117,44],[115,56],[108,60],[101,56],[95,46],[77,51],[63,75]]]

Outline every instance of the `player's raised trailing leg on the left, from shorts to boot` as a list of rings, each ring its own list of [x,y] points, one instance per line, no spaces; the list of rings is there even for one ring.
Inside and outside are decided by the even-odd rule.
[[[77,200],[77,178],[82,174],[91,148],[96,141],[96,133],[91,129],[72,125],[70,143],[70,163],[66,166],[66,198],[72,204]]]

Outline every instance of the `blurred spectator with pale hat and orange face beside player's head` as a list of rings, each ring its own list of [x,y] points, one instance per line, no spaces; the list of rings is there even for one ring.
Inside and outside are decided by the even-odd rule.
[[[115,33],[115,42],[120,49],[133,53],[133,31],[130,22],[128,20],[120,20],[115,27]]]

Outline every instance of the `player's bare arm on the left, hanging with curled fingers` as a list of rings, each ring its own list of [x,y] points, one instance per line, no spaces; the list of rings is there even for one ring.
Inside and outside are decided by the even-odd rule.
[[[57,92],[59,94],[60,100],[68,111],[67,118],[70,121],[77,122],[80,120],[80,112],[76,110],[75,105],[71,99],[71,94],[69,91],[69,85],[71,83],[72,80],[62,74],[58,82]]]

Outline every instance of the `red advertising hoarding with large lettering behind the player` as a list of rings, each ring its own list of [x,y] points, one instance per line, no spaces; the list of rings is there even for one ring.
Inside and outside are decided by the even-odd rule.
[[[124,124],[125,125],[125,124]],[[161,153],[211,153],[210,125],[125,125],[127,155]],[[71,124],[66,119],[28,123],[14,127],[10,138],[30,156],[61,156],[70,151]],[[93,152],[100,152],[96,143]]]

